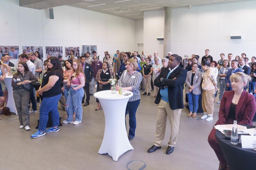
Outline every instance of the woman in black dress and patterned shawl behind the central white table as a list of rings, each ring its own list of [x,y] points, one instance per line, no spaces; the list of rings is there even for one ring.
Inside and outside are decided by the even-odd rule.
[[[112,70],[109,69],[108,62],[103,62],[102,69],[100,69],[96,75],[96,81],[99,83],[97,85],[97,92],[100,92],[103,90],[110,90],[109,79],[111,77],[114,77],[114,74],[113,74]],[[97,98],[96,98],[96,102],[98,103],[98,107],[95,109],[95,111],[98,111],[101,108],[101,104],[100,104],[99,99],[97,99]]]

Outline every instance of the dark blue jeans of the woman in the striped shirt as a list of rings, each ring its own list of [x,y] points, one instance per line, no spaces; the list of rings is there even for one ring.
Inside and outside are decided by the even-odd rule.
[[[140,99],[136,101],[128,101],[125,109],[125,117],[127,114],[127,111],[129,112],[129,137],[135,136],[135,129],[136,129],[136,111],[139,107]]]

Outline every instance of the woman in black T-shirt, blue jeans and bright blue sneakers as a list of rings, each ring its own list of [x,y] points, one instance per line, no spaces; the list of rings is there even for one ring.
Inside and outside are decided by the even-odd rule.
[[[40,106],[39,126],[32,138],[44,136],[45,132],[58,132],[59,112],[58,101],[61,97],[61,82],[63,81],[63,71],[57,57],[50,57],[47,63],[48,69],[44,73],[43,81],[37,93],[42,95],[43,100]],[[52,128],[46,129],[48,114],[51,112]]]

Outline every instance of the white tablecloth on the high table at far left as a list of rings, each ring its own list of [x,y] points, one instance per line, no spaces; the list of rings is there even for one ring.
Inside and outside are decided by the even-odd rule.
[[[8,91],[8,101],[7,101],[6,107],[9,107],[10,112],[13,112],[17,115],[17,110],[15,107],[14,99],[13,99],[12,76],[5,76],[4,82]]]

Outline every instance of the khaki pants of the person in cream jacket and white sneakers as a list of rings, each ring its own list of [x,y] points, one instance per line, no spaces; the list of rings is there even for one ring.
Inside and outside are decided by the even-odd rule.
[[[202,107],[203,107],[203,110],[204,110],[204,114],[208,114],[208,116],[213,115],[214,93],[215,93],[215,89],[203,90]]]

